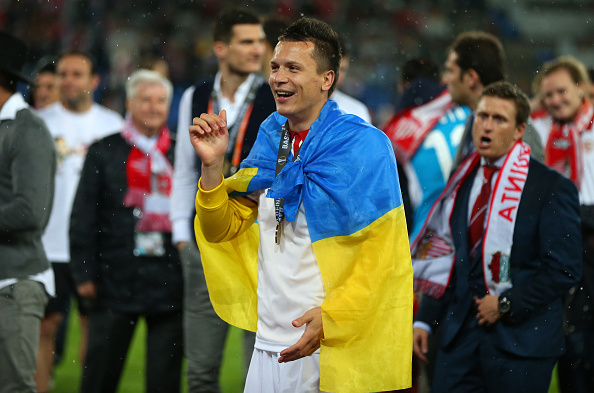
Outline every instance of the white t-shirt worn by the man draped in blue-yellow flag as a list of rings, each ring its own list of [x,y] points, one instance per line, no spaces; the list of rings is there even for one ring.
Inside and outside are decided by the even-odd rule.
[[[259,195],[258,195],[259,194]],[[291,324],[326,298],[318,261],[313,252],[303,203],[295,222],[282,221],[280,244],[275,242],[274,199],[266,191],[258,197],[258,328],[255,348],[281,352],[295,344],[305,325]]]

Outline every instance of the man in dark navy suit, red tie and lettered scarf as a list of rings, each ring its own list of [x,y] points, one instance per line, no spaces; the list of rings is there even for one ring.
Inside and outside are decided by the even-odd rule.
[[[421,360],[441,325],[434,393],[547,392],[564,351],[561,298],[581,275],[579,200],[569,179],[530,158],[529,111],[507,82],[483,90],[477,153],[413,244],[415,282],[431,295],[415,322]]]

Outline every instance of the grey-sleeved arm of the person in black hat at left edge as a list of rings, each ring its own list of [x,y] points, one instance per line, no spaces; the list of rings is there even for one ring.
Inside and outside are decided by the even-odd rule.
[[[16,120],[15,120],[16,121]],[[27,129],[14,134],[11,162],[14,198],[0,206],[0,231],[42,230],[54,197],[56,152],[41,121],[24,123]]]

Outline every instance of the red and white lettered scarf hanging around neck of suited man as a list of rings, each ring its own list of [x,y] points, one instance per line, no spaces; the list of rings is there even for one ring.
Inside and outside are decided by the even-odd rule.
[[[472,153],[452,175],[411,246],[415,290],[439,298],[451,278],[456,250],[450,218],[460,185],[479,165]],[[499,170],[487,212],[483,240],[483,273],[489,294],[499,295],[512,287],[509,255],[522,191],[528,177],[530,147],[518,141]],[[469,262],[470,263],[470,262]]]

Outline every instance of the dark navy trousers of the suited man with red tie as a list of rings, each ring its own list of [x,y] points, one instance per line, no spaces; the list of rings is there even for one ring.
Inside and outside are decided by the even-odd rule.
[[[498,322],[501,323],[501,322]],[[493,345],[474,315],[437,354],[433,393],[547,393],[556,358],[526,358]]]

